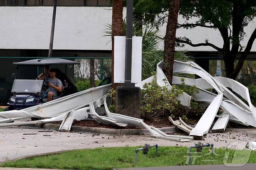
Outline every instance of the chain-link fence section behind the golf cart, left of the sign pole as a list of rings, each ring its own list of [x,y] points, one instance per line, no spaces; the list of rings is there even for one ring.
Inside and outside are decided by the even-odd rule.
[[[0,106],[6,106],[12,96],[12,73],[16,73],[17,79],[35,80],[44,68],[41,66],[20,66],[17,72],[13,62],[21,62],[32,59],[48,57],[0,57]],[[78,91],[90,87],[111,83],[111,58],[107,57],[54,57],[79,62],[80,65],[51,65],[50,68],[58,68],[66,73],[68,79],[74,83]]]

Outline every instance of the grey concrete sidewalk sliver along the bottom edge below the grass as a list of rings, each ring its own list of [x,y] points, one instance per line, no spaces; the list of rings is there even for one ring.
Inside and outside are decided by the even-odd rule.
[[[147,168],[118,168],[114,170],[255,170],[256,163],[242,167],[227,167],[225,165],[192,165],[175,167],[147,167]]]

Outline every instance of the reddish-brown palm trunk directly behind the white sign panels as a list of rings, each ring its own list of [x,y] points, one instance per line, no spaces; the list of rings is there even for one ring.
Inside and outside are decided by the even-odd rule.
[[[112,2],[112,88],[116,89],[119,83],[114,83],[114,36],[123,36],[122,0]]]

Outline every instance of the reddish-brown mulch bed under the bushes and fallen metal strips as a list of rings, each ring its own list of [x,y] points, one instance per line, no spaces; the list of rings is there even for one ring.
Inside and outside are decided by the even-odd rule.
[[[168,118],[144,121],[144,123],[146,123],[149,126],[156,127],[156,128],[163,128],[163,127],[172,126],[172,123],[170,123]],[[54,122],[54,124],[59,124],[60,125],[61,121]],[[95,120],[81,120],[81,121],[74,120],[72,126],[115,128],[115,129],[143,129],[143,128],[140,128],[140,127],[119,127],[119,126],[114,126],[114,125],[105,125],[103,123],[98,123]]]

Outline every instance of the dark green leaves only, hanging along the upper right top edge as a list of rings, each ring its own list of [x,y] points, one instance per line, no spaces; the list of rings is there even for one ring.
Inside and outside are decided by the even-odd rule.
[[[170,0],[139,0],[134,4],[134,16],[142,16],[146,24],[161,26],[167,21]],[[181,0],[179,14],[189,20],[197,17],[194,24],[214,24],[214,28],[227,28],[232,23],[233,6],[239,6],[239,16],[246,16],[242,28],[256,16],[255,0]],[[193,28],[188,25],[185,28]],[[244,31],[240,30],[241,35]]]

